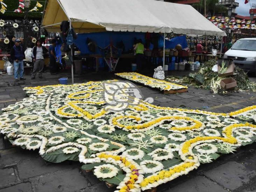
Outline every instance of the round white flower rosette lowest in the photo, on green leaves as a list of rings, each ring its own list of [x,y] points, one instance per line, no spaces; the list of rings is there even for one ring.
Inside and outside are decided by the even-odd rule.
[[[103,164],[94,167],[93,174],[97,178],[112,178],[117,175],[119,169],[111,164]]]

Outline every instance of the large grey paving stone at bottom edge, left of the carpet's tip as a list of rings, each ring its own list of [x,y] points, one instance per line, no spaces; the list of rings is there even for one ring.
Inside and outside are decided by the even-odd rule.
[[[39,177],[37,192],[71,192],[88,187],[78,169],[67,169]]]

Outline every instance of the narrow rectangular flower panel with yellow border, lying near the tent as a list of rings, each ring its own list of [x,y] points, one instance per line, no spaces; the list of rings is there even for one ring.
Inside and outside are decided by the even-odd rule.
[[[122,77],[124,79],[128,79],[130,81],[134,81],[136,83],[141,83],[143,85],[158,88],[161,91],[170,91],[170,90],[180,90],[187,89],[186,86],[178,85],[175,83],[170,83],[168,81],[154,79],[148,76],[144,76],[140,73],[128,72],[128,73],[116,73],[117,76]]]

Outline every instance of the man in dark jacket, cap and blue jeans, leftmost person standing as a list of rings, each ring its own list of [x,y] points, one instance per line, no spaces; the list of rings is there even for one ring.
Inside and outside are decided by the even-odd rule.
[[[14,41],[15,45],[11,49],[10,57],[14,61],[14,78],[16,81],[19,81],[19,76],[20,80],[25,80],[23,77],[23,72],[24,72],[24,64],[23,64],[23,59],[25,59],[25,54],[23,51],[23,48],[20,45],[20,40],[16,39]]]

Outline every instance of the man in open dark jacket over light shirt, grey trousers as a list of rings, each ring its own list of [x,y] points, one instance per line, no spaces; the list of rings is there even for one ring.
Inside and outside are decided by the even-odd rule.
[[[33,48],[33,51],[32,51],[34,69],[31,74],[31,79],[35,79],[37,71],[39,73],[39,78],[40,79],[43,78],[42,71],[44,69],[44,57],[45,57],[45,54],[47,54],[47,52],[48,50],[44,46],[42,46],[41,41],[37,40],[36,46]]]

